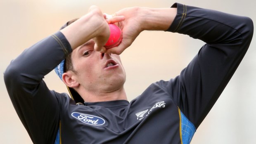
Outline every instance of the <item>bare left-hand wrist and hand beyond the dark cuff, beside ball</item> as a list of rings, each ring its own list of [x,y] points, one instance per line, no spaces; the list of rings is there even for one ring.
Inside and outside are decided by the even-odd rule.
[[[88,14],[62,29],[61,32],[73,50],[92,38],[95,38],[95,43],[102,47],[107,42],[110,33],[102,12],[95,6],[90,7]]]

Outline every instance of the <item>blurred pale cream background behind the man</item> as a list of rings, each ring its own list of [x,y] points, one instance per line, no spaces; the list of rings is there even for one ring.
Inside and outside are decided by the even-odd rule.
[[[112,14],[125,7],[171,7],[174,2],[251,17],[256,23],[254,0],[1,0],[0,73],[12,59],[37,41],[55,33],[66,21],[81,17],[91,5]],[[121,59],[126,69],[128,99],[151,83],[179,75],[204,42],[187,35],[162,31],[142,32]],[[256,142],[256,38],[230,83],[201,123],[191,144],[251,144]],[[45,76],[51,90],[67,92],[52,71]],[[0,77],[0,143],[32,144],[14,111]]]

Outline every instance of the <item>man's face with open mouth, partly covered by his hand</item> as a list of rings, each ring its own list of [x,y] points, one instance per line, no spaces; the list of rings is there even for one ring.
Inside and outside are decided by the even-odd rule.
[[[119,55],[102,54],[94,50],[94,41],[73,50],[73,78],[79,83],[75,89],[88,92],[113,92],[123,87],[126,73]]]

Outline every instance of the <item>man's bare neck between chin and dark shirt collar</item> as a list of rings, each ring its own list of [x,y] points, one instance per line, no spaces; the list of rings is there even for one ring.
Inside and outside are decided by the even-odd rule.
[[[85,102],[105,102],[114,100],[127,100],[123,87],[113,91],[81,92],[81,97]]]

